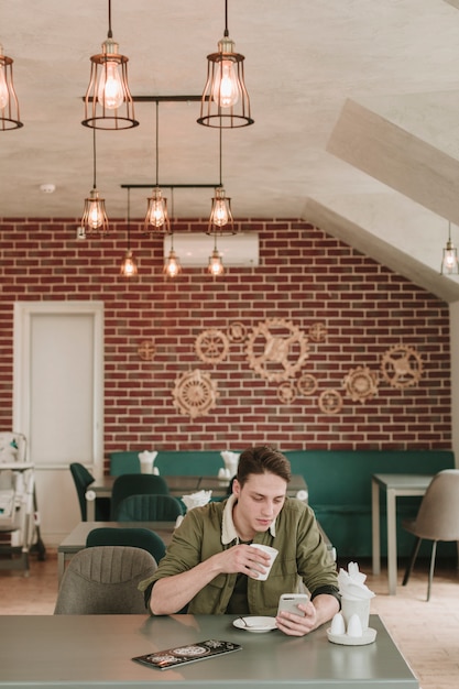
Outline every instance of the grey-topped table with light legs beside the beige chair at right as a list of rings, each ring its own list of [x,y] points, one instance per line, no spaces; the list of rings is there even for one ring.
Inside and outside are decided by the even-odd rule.
[[[397,587],[397,525],[396,499],[424,495],[433,474],[374,473],[372,475],[371,522],[373,575],[381,573],[381,517],[380,492],[385,493],[387,525],[387,583],[389,594],[396,594]]]

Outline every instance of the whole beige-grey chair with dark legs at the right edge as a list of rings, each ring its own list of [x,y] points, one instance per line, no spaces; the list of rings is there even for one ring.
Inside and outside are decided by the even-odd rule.
[[[433,542],[427,583],[427,600],[429,600],[437,543],[459,540],[459,470],[445,469],[436,473],[424,494],[416,518],[404,520],[402,525],[405,531],[416,536],[403,586],[408,583],[420,543],[424,539]]]

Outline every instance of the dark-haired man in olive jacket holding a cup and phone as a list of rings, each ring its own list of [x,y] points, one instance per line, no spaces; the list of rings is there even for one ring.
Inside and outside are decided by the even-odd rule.
[[[303,636],[339,610],[336,565],[314,513],[286,497],[291,466],[272,447],[244,450],[232,495],[190,510],[175,531],[154,576],[142,582],[153,614],[187,606],[193,614],[276,615],[282,593],[304,591],[310,600],[298,613],[282,612],[277,627]],[[270,557],[251,543],[278,550],[265,581]]]

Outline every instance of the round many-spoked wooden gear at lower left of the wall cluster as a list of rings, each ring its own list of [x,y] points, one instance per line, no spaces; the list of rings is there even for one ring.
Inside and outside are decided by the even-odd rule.
[[[195,419],[215,408],[219,393],[210,375],[195,369],[176,381],[173,396],[177,411]]]

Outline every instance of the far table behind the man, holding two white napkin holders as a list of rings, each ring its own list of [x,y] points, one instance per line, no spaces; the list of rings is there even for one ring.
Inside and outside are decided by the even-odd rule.
[[[89,522],[94,522],[96,512],[97,497],[110,497],[113,483],[118,477],[103,475],[100,479],[96,479],[94,483],[88,486],[86,491],[86,510],[87,518]],[[228,494],[230,479],[221,478],[218,475],[164,475],[167,483],[171,495],[174,497],[182,497],[189,493],[196,493],[198,491],[211,491],[212,497],[225,497]],[[291,481],[287,486],[287,495],[295,497],[297,494],[303,495],[303,499],[307,501],[307,485],[306,481],[299,473],[292,474]]]

